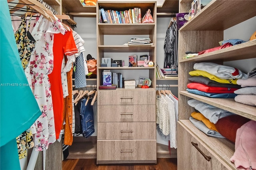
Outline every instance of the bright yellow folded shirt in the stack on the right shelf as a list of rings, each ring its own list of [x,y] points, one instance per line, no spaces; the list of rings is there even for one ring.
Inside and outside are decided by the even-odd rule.
[[[234,80],[225,80],[225,79],[220,79],[218,77],[216,77],[215,75],[212,75],[210,73],[207,73],[206,71],[201,71],[201,70],[194,70],[194,71],[190,71],[189,75],[191,76],[203,76],[203,77],[207,77],[213,81],[216,81],[218,83],[226,83],[226,84],[234,84],[237,85],[236,81],[237,79]]]

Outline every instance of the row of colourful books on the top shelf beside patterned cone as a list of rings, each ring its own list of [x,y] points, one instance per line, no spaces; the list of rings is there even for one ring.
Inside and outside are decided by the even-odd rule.
[[[141,10],[140,8],[130,8],[125,11],[117,10],[99,10],[99,22],[108,24],[133,24],[141,23]],[[102,17],[102,18],[101,18]]]

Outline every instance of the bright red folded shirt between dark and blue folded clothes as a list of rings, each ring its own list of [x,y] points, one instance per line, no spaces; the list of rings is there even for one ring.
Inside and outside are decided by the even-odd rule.
[[[206,93],[234,93],[234,91],[237,90],[236,88],[228,87],[212,87],[201,83],[188,83],[187,87],[189,89],[196,89]]]

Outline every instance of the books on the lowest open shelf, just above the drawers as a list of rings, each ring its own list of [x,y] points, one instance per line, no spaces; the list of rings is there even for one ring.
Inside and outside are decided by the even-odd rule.
[[[116,85],[118,88],[124,87],[124,77],[121,73],[114,73],[110,70],[103,70],[102,81],[104,86]]]

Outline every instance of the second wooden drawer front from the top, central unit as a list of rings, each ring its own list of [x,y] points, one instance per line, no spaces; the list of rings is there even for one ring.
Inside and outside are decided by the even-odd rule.
[[[155,122],[156,105],[98,105],[98,122]]]

